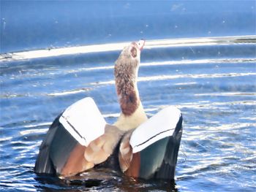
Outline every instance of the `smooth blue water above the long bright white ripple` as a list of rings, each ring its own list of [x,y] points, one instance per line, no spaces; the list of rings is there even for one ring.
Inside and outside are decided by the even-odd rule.
[[[1,0],[1,53],[177,37],[255,34],[255,1]]]

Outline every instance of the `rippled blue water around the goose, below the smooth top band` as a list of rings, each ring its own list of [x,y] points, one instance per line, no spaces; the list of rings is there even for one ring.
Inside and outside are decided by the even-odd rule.
[[[97,45],[104,51],[95,53],[1,55],[1,190],[254,191],[256,37],[230,38],[148,41],[141,55],[138,87],[148,116],[167,105],[183,112],[175,183],[106,169],[69,180],[33,172],[51,121],[73,102],[91,96],[109,123],[116,120],[113,64],[123,43],[110,51]]]

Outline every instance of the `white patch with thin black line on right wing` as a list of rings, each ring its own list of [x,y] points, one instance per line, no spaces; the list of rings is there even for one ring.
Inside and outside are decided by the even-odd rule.
[[[159,139],[173,135],[181,112],[176,107],[166,107],[133,131],[129,140],[132,153],[137,153]]]

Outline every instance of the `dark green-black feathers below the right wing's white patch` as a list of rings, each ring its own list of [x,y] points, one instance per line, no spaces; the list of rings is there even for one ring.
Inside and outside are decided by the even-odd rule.
[[[140,153],[140,176],[144,179],[173,180],[182,134],[182,116],[170,137],[159,139]]]

